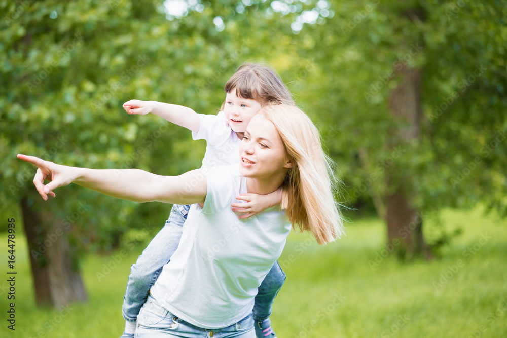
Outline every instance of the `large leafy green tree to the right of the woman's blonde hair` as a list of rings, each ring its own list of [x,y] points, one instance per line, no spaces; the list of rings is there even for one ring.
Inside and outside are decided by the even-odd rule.
[[[336,134],[334,158],[351,164],[342,169],[349,201],[372,201],[402,256],[429,257],[422,222],[442,207],[483,202],[505,214],[507,3],[330,2],[330,10],[300,33],[313,44],[298,53],[317,65],[302,100]],[[313,99],[322,92],[327,99]]]

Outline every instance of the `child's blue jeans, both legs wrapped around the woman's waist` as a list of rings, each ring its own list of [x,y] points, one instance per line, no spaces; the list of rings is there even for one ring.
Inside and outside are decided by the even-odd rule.
[[[183,224],[190,209],[188,205],[174,205],[164,227],[148,244],[130,268],[127,289],[123,299],[123,318],[133,322],[142,305],[148,298],[153,283],[157,280],[162,267],[169,262],[182,237]],[[253,317],[262,321],[271,315],[271,307],[276,294],[285,281],[285,274],[278,262],[273,264],[268,275],[259,287],[259,293],[253,306]]]

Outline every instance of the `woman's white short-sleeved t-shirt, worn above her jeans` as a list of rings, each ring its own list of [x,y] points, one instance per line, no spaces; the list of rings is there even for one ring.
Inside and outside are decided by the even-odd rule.
[[[202,328],[237,323],[280,256],[291,224],[279,207],[246,219],[231,209],[246,193],[239,165],[206,173],[203,208],[192,205],[180,245],[150,292],[175,316]]]

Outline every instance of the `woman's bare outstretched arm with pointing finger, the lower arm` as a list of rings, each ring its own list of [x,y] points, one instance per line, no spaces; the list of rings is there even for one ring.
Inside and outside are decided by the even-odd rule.
[[[88,169],[68,167],[35,156],[18,158],[38,167],[33,184],[46,201],[60,186],[75,183],[99,193],[134,202],[193,204],[206,197],[206,176],[200,169],[179,176],[160,176],[139,169]],[[44,184],[44,180],[49,180]]]

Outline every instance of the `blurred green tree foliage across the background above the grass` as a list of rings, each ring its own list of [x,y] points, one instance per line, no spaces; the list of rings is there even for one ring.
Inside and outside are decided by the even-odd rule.
[[[318,123],[346,203],[384,195],[385,171],[396,166],[421,210],[486,200],[507,212],[505,0],[224,0],[197,2],[183,17],[167,15],[161,1],[4,1],[0,9],[5,210],[33,192],[34,171],[18,152],[159,174],[198,167],[202,142],[155,117],[128,116],[121,104],[151,99],[212,114],[238,65],[268,61]],[[388,98],[400,64],[422,69],[423,116],[421,139],[393,152]],[[57,194],[46,205],[60,218],[92,205],[76,236],[97,248],[128,227],[162,226],[169,210],[79,188]]]

